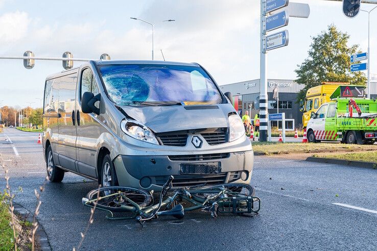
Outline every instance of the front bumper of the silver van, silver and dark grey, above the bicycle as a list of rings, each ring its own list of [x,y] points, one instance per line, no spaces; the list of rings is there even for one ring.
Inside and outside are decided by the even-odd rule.
[[[254,153],[250,150],[169,156],[118,155],[114,167],[120,186],[160,191],[170,175],[174,176],[173,187],[249,184],[253,162]]]

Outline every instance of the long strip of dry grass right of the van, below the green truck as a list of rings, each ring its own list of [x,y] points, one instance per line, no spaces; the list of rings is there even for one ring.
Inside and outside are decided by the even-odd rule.
[[[375,145],[347,145],[335,143],[278,143],[278,142],[251,142],[255,153],[263,155],[287,153],[316,153],[316,152],[351,152],[377,150]]]

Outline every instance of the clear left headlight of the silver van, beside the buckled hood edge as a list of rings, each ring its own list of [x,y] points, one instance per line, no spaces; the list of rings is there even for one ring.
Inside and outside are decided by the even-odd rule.
[[[122,120],[121,129],[124,131],[124,133],[136,140],[159,145],[153,132],[148,127],[137,122],[136,120]]]

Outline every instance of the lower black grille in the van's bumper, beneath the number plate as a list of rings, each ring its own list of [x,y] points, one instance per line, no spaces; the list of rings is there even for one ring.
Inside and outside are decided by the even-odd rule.
[[[173,187],[192,187],[196,185],[218,185],[224,184],[227,173],[219,174],[182,174],[174,175]],[[233,182],[241,177],[241,172],[230,172],[228,182]],[[155,176],[156,185],[162,186],[165,184],[169,176]]]

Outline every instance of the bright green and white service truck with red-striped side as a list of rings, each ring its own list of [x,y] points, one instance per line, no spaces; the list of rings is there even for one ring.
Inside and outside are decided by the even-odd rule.
[[[337,98],[312,112],[307,126],[308,141],[340,141],[374,144],[377,141],[377,101]]]

